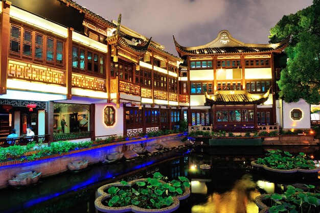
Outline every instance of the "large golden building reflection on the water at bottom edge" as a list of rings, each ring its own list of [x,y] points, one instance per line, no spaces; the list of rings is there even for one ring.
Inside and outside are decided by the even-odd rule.
[[[206,203],[192,207],[192,213],[256,213],[255,197],[260,193],[249,175],[236,181],[233,188],[223,194],[213,193]]]

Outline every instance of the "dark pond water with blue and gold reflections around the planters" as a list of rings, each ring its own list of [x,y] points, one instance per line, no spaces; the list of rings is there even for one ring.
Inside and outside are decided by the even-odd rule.
[[[66,172],[42,178],[36,185],[0,190],[0,212],[97,212],[94,206],[98,187],[119,180],[150,177],[161,172],[170,179],[187,176],[191,196],[182,201],[176,212],[257,213],[254,198],[261,193],[281,193],[287,184],[302,186],[306,182],[278,179],[258,174],[250,161],[266,149],[280,147],[196,147],[172,151],[149,158],[116,164],[96,164],[78,173]],[[291,153],[305,152],[320,159],[318,147],[281,147]],[[203,171],[207,163],[212,169]],[[320,179],[307,182],[320,188]]]

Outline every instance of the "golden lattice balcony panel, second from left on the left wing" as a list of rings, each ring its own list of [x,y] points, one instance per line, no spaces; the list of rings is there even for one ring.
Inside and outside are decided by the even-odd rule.
[[[105,91],[105,80],[96,77],[72,74],[72,86],[83,89]]]

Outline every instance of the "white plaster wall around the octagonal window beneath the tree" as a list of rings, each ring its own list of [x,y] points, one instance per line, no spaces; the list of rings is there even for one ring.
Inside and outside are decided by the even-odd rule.
[[[296,103],[283,103],[283,128],[284,129],[309,129],[310,128],[310,105],[305,100],[300,99]],[[291,110],[300,109],[302,111],[302,119],[293,121],[291,119]]]

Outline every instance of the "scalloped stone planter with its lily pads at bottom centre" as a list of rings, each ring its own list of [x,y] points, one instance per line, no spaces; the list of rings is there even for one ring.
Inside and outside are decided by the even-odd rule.
[[[186,177],[167,180],[156,172],[153,178],[101,186],[95,206],[102,212],[172,212],[179,207],[179,200],[190,196],[190,182]]]

